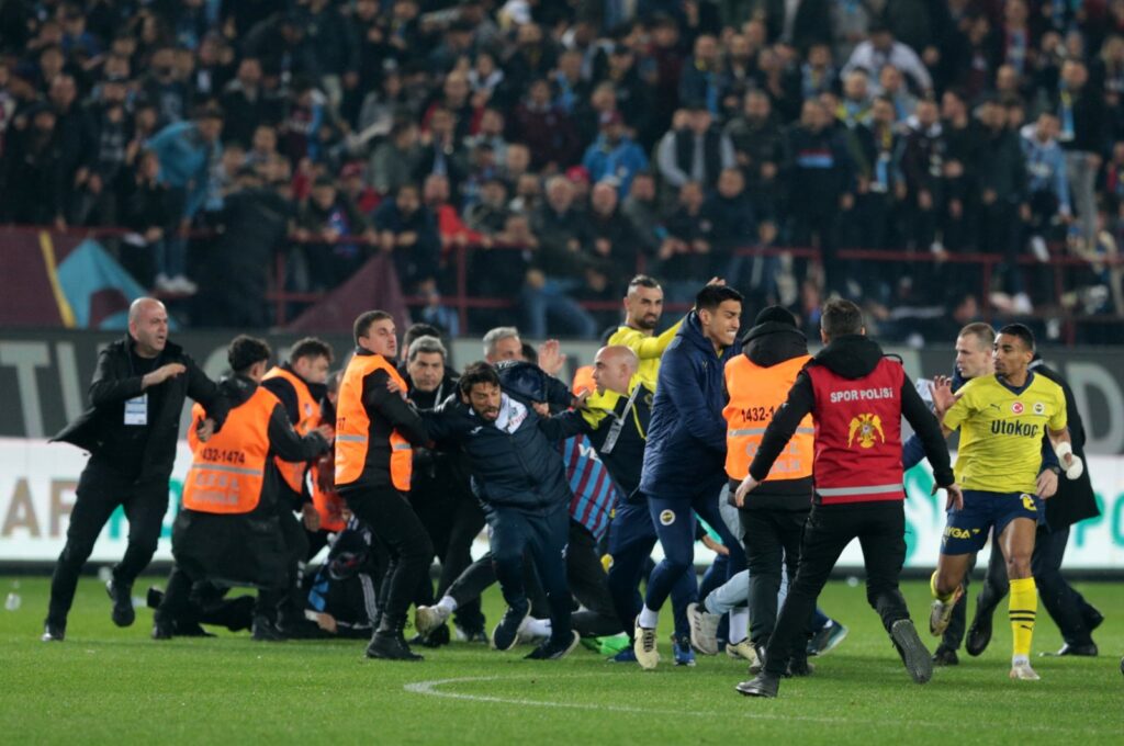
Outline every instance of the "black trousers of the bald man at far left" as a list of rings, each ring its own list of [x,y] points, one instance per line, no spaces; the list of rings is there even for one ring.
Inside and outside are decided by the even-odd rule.
[[[66,529],[66,546],[58,555],[51,579],[47,622],[66,626],[82,566],[93,552],[98,535],[117,507],[125,508],[129,521],[128,547],[114,567],[114,582],[132,585],[152,562],[167,512],[167,482],[138,485],[136,479],[91,458],[78,482],[78,499]]]

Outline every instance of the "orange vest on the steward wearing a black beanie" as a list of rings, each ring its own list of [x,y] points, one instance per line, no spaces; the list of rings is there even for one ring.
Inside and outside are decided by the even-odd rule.
[[[788,399],[788,391],[810,355],[800,355],[770,367],[754,364],[738,355],[724,371],[729,403],[722,410],[726,418],[726,474],[744,480],[761,447],[762,436],[773,413]],[[769,480],[796,480],[812,476],[815,427],[812,415],[805,416],[780,457],[769,471]]]

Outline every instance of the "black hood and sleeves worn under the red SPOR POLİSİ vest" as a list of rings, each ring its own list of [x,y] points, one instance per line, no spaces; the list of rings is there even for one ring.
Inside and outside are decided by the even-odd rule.
[[[870,375],[882,357],[882,348],[873,339],[864,335],[843,335],[821,349],[808,365],[825,365],[836,375],[858,380]],[[759,482],[764,480],[773,462],[796,433],[800,420],[808,412],[812,412],[813,417],[817,415],[816,395],[812,377],[807,370],[804,370],[788,392],[788,401],[777,411],[765,429],[761,448],[750,464],[750,474],[754,480]],[[901,413],[921,438],[928,463],[933,465],[933,477],[937,485],[952,484],[955,477],[952,475],[949,449],[944,445],[941,426],[928,411],[928,407],[925,406],[908,375],[901,379]]]

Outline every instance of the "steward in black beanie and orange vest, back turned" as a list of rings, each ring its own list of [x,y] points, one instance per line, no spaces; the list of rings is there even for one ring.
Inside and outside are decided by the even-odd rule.
[[[780,306],[765,308],[742,340],[742,354],[726,363],[726,475],[733,494],[750,473],[765,427],[785,403],[796,376],[804,370],[808,340],[796,317]],[[750,570],[750,640],[758,659],[777,624],[777,593],[781,563],[796,577],[800,536],[812,510],[812,415],[805,415],[768,477],[741,507],[745,558]],[[806,646],[796,646],[794,672],[806,667]],[[804,655],[801,655],[804,652]]]

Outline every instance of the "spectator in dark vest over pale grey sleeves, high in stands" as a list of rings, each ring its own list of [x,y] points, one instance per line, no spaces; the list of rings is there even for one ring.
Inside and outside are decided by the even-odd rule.
[[[722,170],[737,163],[734,145],[722,130],[711,126],[714,119],[704,101],[691,101],[687,111],[686,128],[669,131],[660,140],[656,158],[660,173],[676,189],[688,181],[713,189]]]

